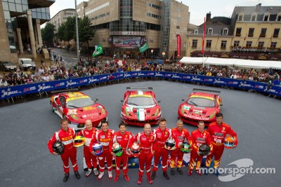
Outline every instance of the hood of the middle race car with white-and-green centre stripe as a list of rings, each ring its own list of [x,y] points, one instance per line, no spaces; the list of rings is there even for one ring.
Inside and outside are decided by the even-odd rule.
[[[126,116],[133,116],[138,117],[138,120],[143,121],[145,118],[150,116],[159,116],[161,114],[161,109],[157,105],[152,106],[130,106],[130,105],[124,105],[122,107],[123,113],[126,114]]]

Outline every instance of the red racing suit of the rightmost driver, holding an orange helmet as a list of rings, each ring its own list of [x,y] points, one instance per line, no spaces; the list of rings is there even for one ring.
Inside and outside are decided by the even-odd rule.
[[[218,126],[216,122],[211,123],[207,128],[207,132],[210,133],[211,143],[213,144],[213,153],[211,155],[207,155],[206,158],[206,166],[209,167],[211,165],[211,160],[214,157],[214,168],[218,168],[221,162],[221,155],[223,155],[224,150],[224,139],[226,134],[230,134],[235,139],[235,146],[238,144],[237,134],[230,127],[230,125],[223,123],[221,126]]]

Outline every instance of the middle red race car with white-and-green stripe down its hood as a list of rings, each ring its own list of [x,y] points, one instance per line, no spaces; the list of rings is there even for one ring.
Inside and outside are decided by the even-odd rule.
[[[152,88],[127,87],[121,109],[121,120],[129,125],[156,125],[161,118],[161,107],[157,104]],[[131,89],[131,90],[130,90]],[[146,90],[146,91],[145,91]],[[159,102],[159,101],[158,101]]]

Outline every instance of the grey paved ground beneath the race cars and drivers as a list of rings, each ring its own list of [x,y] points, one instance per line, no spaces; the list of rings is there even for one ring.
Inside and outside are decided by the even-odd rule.
[[[170,128],[175,126],[181,99],[187,97],[192,88],[207,88],[169,81],[139,81],[84,90],[91,98],[98,98],[98,102],[104,104],[113,130],[118,129],[120,122],[120,100],[126,87],[132,85],[153,87],[157,100],[161,100],[163,117],[167,119]],[[237,148],[225,151],[221,167],[227,167],[235,160],[249,158],[254,161],[254,168],[275,167],[276,174],[245,174],[235,181],[223,182],[214,174],[188,176],[188,168],[185,167],[183,176],[176,172],[175,176],[166,181],[159,168],[153,186],[280,185],[280,100],[256,93],[221,88],[217,90],[221,91],[223,98],[224,121],[232,125],[239,138]],[[137,186],[138,169],[129,169],[129,182],[120,177],[118,183],[114,183],[107,178],[107,172],[100,181],[93,175],[85,178],[82,148],[78,148],[77,158],[81,179],[75,179],[71,171],[69,181],[63,183],[60,157],[51,155],[46,145],[53,132],[60,128],[60,118],[51,111],[49,98],[1,107],[0,118],[0,186]],[[189,125],[185,125],[185,128],[195,130],[195,127]],[[131,126],[128,130],[134,134],[143,131],[141,127]],[[145,177],[141,186],[150,186]]]

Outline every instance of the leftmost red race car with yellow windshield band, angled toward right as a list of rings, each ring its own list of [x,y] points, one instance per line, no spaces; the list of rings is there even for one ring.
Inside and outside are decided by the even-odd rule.
[[[105,107],[96,101],[82,92],[61,92],[53,95],[50,103],[54,113],[69,120],[70,127],[81,130],[87,119],[92,121],[93,127],[100,127],[100,122],[107,120]]]

